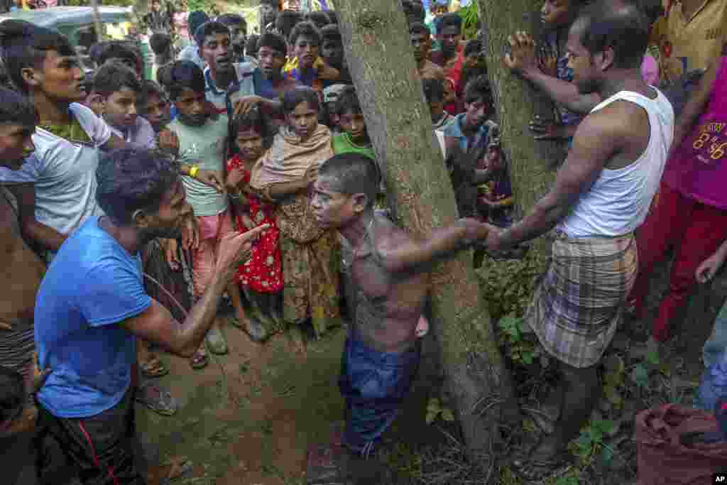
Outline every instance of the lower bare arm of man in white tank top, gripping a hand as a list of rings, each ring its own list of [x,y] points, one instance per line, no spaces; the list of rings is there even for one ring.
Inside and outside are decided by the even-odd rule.
[[[553,188],[520,223],[500,233],[501,246],[514,246],[537,238],[566,217],[581,193],[587,191],[601,175],[606,161],[624,143],[624,128],[619,127],[616,121],[619,120],[614,121],[606,113],[599,113],[581,122]]]

